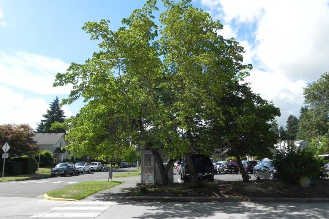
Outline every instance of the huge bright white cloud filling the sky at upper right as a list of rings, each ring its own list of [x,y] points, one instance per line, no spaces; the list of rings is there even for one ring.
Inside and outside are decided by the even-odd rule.
[[[329,0],[200,0],[235,30],[252,63],[247,81],[281,109],[285,123],[303,106],[303,87],[329,69]],[[250,43],[248,43],[250,42]]]

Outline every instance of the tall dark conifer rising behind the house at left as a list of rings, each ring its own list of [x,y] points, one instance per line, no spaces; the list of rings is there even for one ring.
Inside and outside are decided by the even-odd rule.
[[[47,113],[42,115],[45,119],[41,120],[41,123],[38,124],[37,132],[65,132],[65,129],[62,128],[50,130],[53,122],[58,121],[63,123],[65,121],[64,110],[59,106],[58,97],[50,103],[49,108],[50,109],[47,109]]]

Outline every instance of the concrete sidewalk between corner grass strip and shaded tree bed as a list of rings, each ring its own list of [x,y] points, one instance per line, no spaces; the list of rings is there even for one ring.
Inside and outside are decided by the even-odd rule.
[[[103,190],[86,197],[82,201],[103,201],[103,202],[118,202],[123,199],[130,188],[136,187],[136,184],[141,181],[141,176],[134,177],[118,177],[113,178],[113,181],[124,181],[118,186],[111,189]]]

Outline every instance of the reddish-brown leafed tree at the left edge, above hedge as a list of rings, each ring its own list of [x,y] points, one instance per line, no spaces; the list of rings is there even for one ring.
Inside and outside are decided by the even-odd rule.
[[[28,124],[0,125],[0,147],[8,142],[10,149],[7,153],[10,157],[35,155],[38,147],[33,141],[33,136],[33,129]]]

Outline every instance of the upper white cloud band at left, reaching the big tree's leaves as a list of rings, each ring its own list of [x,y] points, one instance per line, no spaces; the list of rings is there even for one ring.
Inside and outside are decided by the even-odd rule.
[[[41,95],[69,94],[71,87],[53,88],[57,72],[65,72],[69,64],[60,59],[35,53],[0,51],[0,82]]]

